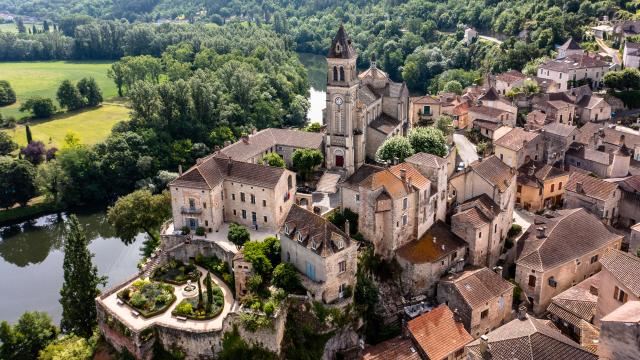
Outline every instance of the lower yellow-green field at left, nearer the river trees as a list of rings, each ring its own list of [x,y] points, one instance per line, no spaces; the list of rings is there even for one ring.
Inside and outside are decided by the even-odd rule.
[[[113,125],[128,119],[129,108],[103,104],[93,109],[58,114],[51,119],[31,121],[29,127],[34,140],[44,142],[47,147],[55,145],[60,148],[64,144],[64,136],[70,131],[76,132],[83,144],[92,145],[104,140],[111,133]],[[18,145],[26,145],[24,125],[2,131],[9,133]]]

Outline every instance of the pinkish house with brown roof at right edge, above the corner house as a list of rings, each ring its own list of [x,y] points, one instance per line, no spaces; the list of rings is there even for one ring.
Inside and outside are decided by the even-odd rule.
[[[602,274],[598,287],[596,324],[628,301],[640,300],[640,258],[617,249],[608,251],[602,259]]]

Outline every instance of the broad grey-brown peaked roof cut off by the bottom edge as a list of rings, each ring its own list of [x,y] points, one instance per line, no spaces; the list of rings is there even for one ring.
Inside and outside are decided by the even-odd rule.
[[[467,351],[477,358],[491,360],[572,359],[596,360],[597,355],[546,325],[542,320],[528,316],[515,319],[491,331],[489,354],[480,352],[480,339],[467,345]]]

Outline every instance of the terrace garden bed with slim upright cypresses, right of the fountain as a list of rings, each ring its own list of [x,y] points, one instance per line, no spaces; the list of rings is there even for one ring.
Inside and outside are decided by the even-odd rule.
[[[213,283],[209,273],[204,279],[204,285],[205,292],[202,291],[202,287],[198,283],[198,296],[183,299],[171,315],[184,316],[191,320],[209,320],[220,315],[224,308],[222,289]]]

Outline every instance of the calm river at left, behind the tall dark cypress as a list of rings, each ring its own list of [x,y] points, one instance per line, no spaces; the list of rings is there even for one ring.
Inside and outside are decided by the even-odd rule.
[[[65,216],[63,215],[63,219]],[[108,277],[107,287],[137,271],[145,235],[126,246],[114,236],[106,214],[79,214],[95,254],[93,263]],[[15,322],[25,311],[46,311],[55,323],[62,308],[64,223],[56,215],[0,228],[0,320]]]

